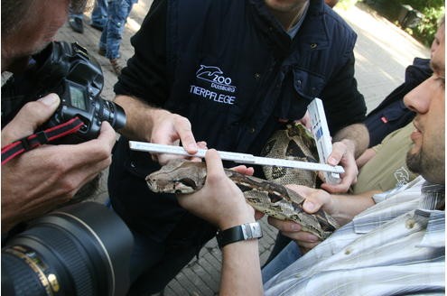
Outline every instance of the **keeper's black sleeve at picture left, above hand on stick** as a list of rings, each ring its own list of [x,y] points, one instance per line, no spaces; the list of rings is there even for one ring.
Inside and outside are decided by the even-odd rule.
[[[155,0],[140,30],[131,38],[135,53],[116,82],[116,95],[138,97],[152,106],[163,106],[169,96],[166,15],[166,1]]]

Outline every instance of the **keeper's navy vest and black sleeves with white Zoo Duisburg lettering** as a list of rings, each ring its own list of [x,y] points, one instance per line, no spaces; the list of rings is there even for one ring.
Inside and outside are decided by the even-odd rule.
[[[302,118],[313,97],[323,101],[331,134],[365,119],[356,38],[322,0],[311,0],[293,40],[261,0],[155,1],[115,91],[188,117],[210,148],[257,154],[279,119]],[[182,209],[145,188],[142,177],[158,168],[149,159],[121,138],[109,193],[131,226],[163,239]]]

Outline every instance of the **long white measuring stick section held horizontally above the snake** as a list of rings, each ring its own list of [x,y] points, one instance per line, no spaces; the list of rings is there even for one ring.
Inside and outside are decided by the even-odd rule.
[[[147,153],[168,153],[177,154],[183,156],[195,156],[204,158],[206,149],[199,149],[198,153],[187,153],[181,146],[163,145],[159,143],[145,143],[129,141],[130,149],[136,151],[143,151]],[[307,171],[331,171],[331,172],[344,172],[340,166],[331,166],[329,164],[315,163],[315,162],[298,162],[292,160],[284,160],[269,157],[258,157],[247,153],[230,153],[226,151],[219,151],[219,156],[224,161],[233,161],[239,163],[250,163],[259,165],[275,165],[287,168],[302,169]]]

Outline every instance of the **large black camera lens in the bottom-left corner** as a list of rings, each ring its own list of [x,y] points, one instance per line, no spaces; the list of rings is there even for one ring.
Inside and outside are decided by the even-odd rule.
[[[2,293],[125,295],[132,245],[124,222],[103,205],[58,209],[2,248]]]

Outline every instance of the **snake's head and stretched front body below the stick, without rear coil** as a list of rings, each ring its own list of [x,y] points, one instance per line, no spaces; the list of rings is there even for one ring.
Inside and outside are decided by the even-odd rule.
[[[240,174],[237,171],[225,170],[225,172],[242,190],[247,203],[265,215],[295,221],[304,231],[321,239],[330,236],[339,227],[338,223],[322,210],[315,214],[304,212],[303,197],[283,185]],[[164,165],[161,170],[148,175],[146,182],[154,192],[188,194],[203,187],[206,175],[204,162],[175,159]]]

